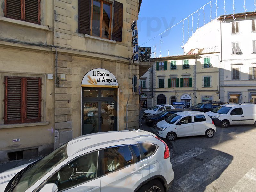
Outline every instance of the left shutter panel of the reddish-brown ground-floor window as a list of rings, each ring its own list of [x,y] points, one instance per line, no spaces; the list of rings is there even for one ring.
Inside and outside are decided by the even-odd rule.
[[[4,124],[21,123],[21,77],[5,77]]]

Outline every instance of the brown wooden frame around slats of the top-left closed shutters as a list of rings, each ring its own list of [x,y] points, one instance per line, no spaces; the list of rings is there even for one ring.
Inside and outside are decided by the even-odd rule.
[[[28,23],[35,23],[37,25],[41,25],[41,0],[38,0],[38,22],[33,22],[33,21],[28,21],[26,20],[26,9],[25,9],[25,0],[21,0],[20,3],[20,9],[21,9],[21,18],[14,18],[7,16],[7,0],[4,0],[4,17],[10,18],[10,19],[15,19],[15,20],[20,20]]]

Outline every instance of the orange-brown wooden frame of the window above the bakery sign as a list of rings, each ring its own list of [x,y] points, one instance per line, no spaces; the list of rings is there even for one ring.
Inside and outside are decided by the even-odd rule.
[[[94,36],[92,35],[92,19],[93,19],[93,0],[91,0],[91,15],[90,15],[90,36],[93,36],[93,37],[99,37],[99,38],[102,38],[102,39],[109,39],[111,40],[112,38],[112,15],[113,15],[113,4],[108,2],[108,1],[104,1],[104,0],[96,0],[96,1],[100,1],[100,36]],[[109,38],[105,38],[105,37],[102,37],[102,23],[103,23],[103,3],[105,4],[109,4],[110,5],[110,22],[109,22]]]

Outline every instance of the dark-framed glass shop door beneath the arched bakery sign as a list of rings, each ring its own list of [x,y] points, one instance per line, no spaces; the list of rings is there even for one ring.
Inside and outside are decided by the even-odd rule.
[[[82,87],[82,135],[117,130],[116,89]]]

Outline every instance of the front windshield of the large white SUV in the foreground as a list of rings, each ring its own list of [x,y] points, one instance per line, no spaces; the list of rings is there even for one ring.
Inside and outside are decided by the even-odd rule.
[[[45,156],[28,170],[26,170],[20,177],[13,192],[26,191],[33,184],[41,179],[46,173],[68,158],[67,143],[54,150],[49,155]],[[16,182],[16,181],[15,181]]]

